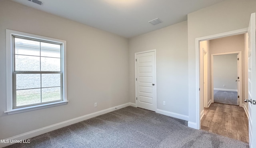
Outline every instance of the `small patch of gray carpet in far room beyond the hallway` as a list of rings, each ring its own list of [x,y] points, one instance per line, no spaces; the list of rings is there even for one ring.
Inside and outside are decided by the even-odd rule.
[[[237,92],[214,90],[214,103],[238,105]]]

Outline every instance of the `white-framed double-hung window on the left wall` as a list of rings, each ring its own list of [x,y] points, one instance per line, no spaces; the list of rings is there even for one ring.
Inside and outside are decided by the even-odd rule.
[[[6,30],[7,113],[66,104],[66,41]]]

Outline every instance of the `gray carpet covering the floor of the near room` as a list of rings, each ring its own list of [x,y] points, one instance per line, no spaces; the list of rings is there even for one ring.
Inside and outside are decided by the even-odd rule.
[[[249,148],[247,143],[188,127],[188,122],[128,106],[9,148]]]

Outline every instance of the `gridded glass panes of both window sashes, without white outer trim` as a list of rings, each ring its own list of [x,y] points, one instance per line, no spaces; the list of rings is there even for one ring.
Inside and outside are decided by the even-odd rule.
[[[39,47],[37,45],[38,42]],[[63,100],[62,44],[13,36],[13,49],[13,108],[34,106]],[[39,55],[36,54],[37,51],[39,52]],[[36,66],[32,66],[32,64],[37,62],[36,57],[39,58],[38,70],[33,69]],[[17,74],[40,74],[40,87],[34,87],[32,84],[34,88],[30,88],[31,86],[23,86],[21,89],[16,88]],[[44,74],[44,77],[42,77],[42,74]],[[45,80],[43,81],[43,79]],[[47,82],[47,79],[50,79],[48,80],[49,82]],[[20,80],[18,81],[22,82]],[[43,84],[44,86],[42,86]]]

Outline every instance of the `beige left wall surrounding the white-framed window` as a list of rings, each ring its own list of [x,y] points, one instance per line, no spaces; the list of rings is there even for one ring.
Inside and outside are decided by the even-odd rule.
[[[7,115],[5,29],[66,40],[68,104]],[[128,103],[128,39],[0,1],[0,139]],[[94,102],[98,107],[94,107]]]

